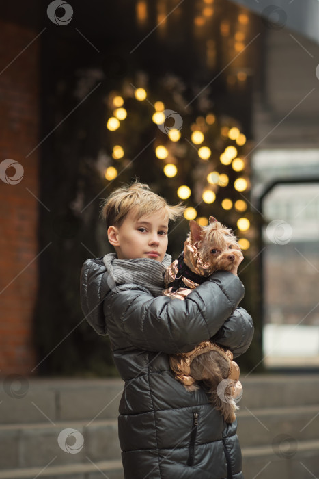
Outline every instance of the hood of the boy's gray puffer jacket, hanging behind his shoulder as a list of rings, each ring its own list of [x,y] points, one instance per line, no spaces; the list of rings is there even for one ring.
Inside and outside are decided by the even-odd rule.
[[[87,322],[99,335],[107,335],[103,300],[110,291],[103,257],[87,259],[81,269],[80,301]]]

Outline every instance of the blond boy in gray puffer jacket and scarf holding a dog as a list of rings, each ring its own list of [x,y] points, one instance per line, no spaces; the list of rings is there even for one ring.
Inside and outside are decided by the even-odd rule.
[[[239,262],[183,301],[162,296],[168,222],[183,209],[141,183],[115,190],[102,218],[116,253],[83,264],[81,307],[95,331],[109,335],[125,381],[118,417],[125,479],[242,479],[237,422],[225,423],[204,388],[189,393],[169,367],[168,354],[209,339],[238,357],[253,337],[251,317],[238,307]]]

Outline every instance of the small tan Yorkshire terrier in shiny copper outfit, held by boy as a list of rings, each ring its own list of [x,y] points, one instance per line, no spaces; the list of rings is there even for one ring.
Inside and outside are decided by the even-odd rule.
[[[226,226],[210,216],[208,226],[189,222],[190,233],[184,250],[164,276],[165,291],[171,298],[184,298],[216,271],[230,271],[242,258],[237,238]],[[230,350],[212,341],[203,341],[189,352],[171,354],[169,363],[176,380],[191,392],[202,381],[209,389],[210,402],[226,422],[234,422],[236,404],[242,395],[240,370]]]

